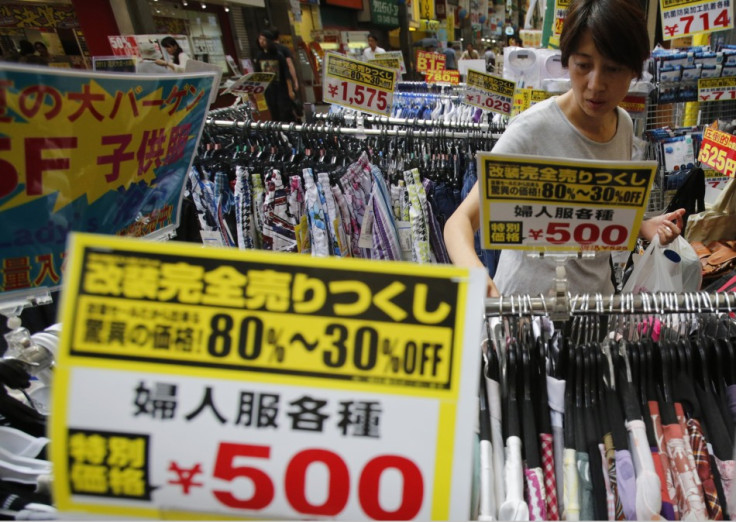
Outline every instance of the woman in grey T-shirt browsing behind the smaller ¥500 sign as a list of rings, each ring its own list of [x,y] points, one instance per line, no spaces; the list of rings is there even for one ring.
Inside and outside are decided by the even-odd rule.
[[[571,88],[561,96],[537,103],[513,119],[493,152],[565,159],[631,160],[633,124],[619,108],[631,80],[642,73],[649,57],[644,13],[636,0],[573,0],[560,38],[562,64],[569,69]],[[478,183],[445,225],[445,242],[453,263],[483,266],[473,244],[480,227]],[[684,209],[644,221],[639,235],[663,245],[682,226]],[[613,293],[610,254],[568,261],[569,291]],[[503,250],[488,294],[546,295],[555,278],[555,261],[528,257],[521,250]]]

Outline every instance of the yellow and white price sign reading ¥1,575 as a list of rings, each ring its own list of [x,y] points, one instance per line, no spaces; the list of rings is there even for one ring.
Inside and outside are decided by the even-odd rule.
[[[328,103],[389,116],[397,74],[393,69],[327,53],[322,97]]]

